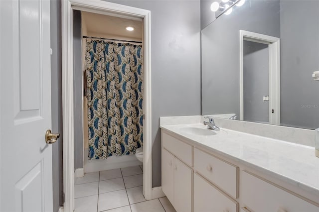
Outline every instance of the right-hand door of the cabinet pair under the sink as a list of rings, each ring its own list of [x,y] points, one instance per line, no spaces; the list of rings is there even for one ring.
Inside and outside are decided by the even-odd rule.
[[[174,158],[174,203],[177,212],[191,212],[192,170]]]

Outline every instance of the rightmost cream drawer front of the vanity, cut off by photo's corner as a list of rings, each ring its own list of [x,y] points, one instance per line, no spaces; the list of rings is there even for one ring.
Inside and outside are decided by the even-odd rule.
[[[319,207],[306,202],[246,171],[240,173],[241,207],[250,212],[319,212]]]

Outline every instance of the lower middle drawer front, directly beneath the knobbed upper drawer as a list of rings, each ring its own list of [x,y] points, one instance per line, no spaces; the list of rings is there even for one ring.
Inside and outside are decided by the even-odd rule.
[[[194,174],[194,212],[238,212],[239,205]]]

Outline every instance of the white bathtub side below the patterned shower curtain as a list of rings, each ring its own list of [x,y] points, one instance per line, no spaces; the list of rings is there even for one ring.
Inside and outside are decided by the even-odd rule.
[[[84,155],[88,155],[88,149],[84,149]],[[84,172],[99,172],[110,169],[126,168],[143,165],[135,155],[111,156],[105,160],[88,160],[84,158]]]

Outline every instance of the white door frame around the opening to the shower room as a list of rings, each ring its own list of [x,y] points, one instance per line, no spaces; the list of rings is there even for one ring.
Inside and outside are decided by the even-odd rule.
[[[143,19],[143,194],[152,199],[151,11],[103,0],[62,0],[62,112],[64,211],[74,211],[73,9]]]

